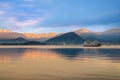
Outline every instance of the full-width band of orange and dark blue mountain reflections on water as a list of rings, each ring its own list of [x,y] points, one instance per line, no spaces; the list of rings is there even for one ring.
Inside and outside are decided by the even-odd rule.
[[[120,49],[0,49],[0,63],[18,59],[106,59],[120,61]]]

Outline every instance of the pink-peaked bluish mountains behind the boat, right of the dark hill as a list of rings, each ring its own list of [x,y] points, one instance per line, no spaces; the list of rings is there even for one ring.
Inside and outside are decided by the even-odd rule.
[[[74,32],[85,40],[120,44],[120,28],[109,29],[105,32],[92,32],[88,29],[79,29]]]

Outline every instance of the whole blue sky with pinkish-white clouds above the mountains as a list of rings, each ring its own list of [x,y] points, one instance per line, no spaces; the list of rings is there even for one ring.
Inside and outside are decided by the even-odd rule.
[[[120,27],[120,0],[0,0],[0,28],[17,32]]]

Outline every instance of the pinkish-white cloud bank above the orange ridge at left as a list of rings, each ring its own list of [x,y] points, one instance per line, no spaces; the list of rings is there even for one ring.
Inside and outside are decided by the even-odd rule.
[[[3,12],[1,12],[3,14]],[[27,16],[26,16],[27,17]],[[33,32],[36,29],[36,26],[40,26],[48,17],[48,14],[44,14],[43,16],[28,17],[21,20],[17,16],[1,16],[0,18],[0,28],[2,29],[12,29],[17,32]]]

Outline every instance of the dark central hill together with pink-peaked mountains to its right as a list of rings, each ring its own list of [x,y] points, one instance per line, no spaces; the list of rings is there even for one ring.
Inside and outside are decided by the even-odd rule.
[[[99,41],[101,43],[120,44],[120,28],[109,29],[104,32],[92,32],[83,28],[51,38],[45,41],[45,43],[83,44],[84,41]]]

